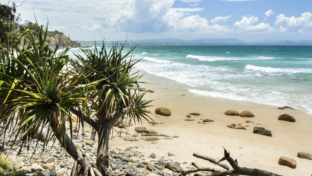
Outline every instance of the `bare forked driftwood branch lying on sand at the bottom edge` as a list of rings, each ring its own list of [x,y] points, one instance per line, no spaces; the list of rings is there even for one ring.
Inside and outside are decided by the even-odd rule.
[[[227,150],[224,148],[224,157],[221,158],[219,161],[211,158],[211,157],[207,157],[198,153],[193,153],[193,156],[197,157],[197,158],[201,158],[204,160],[209,161],[210,163],[213,163],[215,165],[218,165],[224,169],[218,169],[218,168],[205,168],[205,167],[201,167],[196,163],[192,163],[192,165],[194,167],[196,167],[196,169],[191,169],[191,170],[184,170],[182,171],[182,173],[179,176],[186,176],[187,174],[190,173],[196,173],[194,174],[194,176],[226,176],[226,175],[231,175],[231,176],[239,176],[239,175],[249,175],[249,176],[282,176],[276,173],[272,173],[266,170],[261,170],[261,169],[257,169],[257,168],[243,168],[238,166],[237,163],[237,159],[233,159],[232,157],[230,157],[230,152],[227,152]],[[227,160],[227,162],[231,165],[228,166],[225,163],[220,163],[221,161]],[[197,173],[200,171],[209,171],[211,173]]]

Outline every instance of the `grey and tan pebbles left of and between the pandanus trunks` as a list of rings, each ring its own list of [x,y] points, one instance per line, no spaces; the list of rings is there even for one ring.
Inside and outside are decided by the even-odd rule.
[[[7,135],[10,135],[12,131],[7,130]],[[70,135],[69,127],[66,133]],[[88,133],[90,135],[90,133]],[[90,140],[90,136],[84,133],[73,133],[73,143],[80,149],[89,160],[90,163],[96,161],[96,148],[94,148],[94,141]],[[3,153],[11,156],[11,162],[14,163],[17,169],[29,172],[29,175],[35,174],[31,173],[32,169],[37,171],[43,171],[43,174],[49,174],[47,176],[57,175],[57,176],[67,176],[71,173],[71,168],[74,163],[74,159],[66,152],[66,150],[59,146],[58,142],[53,140],[44,142],[37,141],[33,139],[27,148],[23,147],[19,155],[17,155],[22,143],[17,138],[15,144],[13,145],[12,138],[5,138],[0,140],[1,148]],[[3,136],[2,136],[3,139]],[[37,147],[36,147],[37,145]]]

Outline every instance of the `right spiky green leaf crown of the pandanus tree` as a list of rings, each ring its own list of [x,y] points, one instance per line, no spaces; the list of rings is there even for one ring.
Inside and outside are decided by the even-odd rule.
[[[93,50],[81,48],[82,54],[76,53],[77,59],[71,60],[73,69],[84,74],[87,80],[106,78],[96,86],[97,92],[88,93],[88,97],[93,97],[95,103],[92,114],[103,123],[115,112],[129,108],[128,117],[138,121],[147,119],[149,111],[146,108],[151,101],[144,100],[146,90],[139,86],[139,79],[143,75],[131,72],[139,62],[131,57],[135,47],[122,54],[124,44],[112,43],[109,50],[105,46],[103,43],[99,50],[96,45]]]

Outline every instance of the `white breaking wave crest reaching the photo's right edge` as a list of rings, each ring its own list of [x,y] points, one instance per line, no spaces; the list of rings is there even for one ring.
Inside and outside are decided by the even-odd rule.
[[[272,68],[272,67],[259,67],[254,65],[246,65],[246,70],[261,71],[266,73],[312,73],[311,69],[305,68]]]

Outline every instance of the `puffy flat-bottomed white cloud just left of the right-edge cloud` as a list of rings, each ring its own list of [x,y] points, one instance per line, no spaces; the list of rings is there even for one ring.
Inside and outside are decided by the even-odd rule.
[[[252,26],[252,23],[258,22],[258,17],[243,17],[241,21],[237,21],[234,23],[235,31],[249,31],[254,33],[265,33],[274,31],[273,28],[270,27],[269,23],[260,23],[255,26]]]

